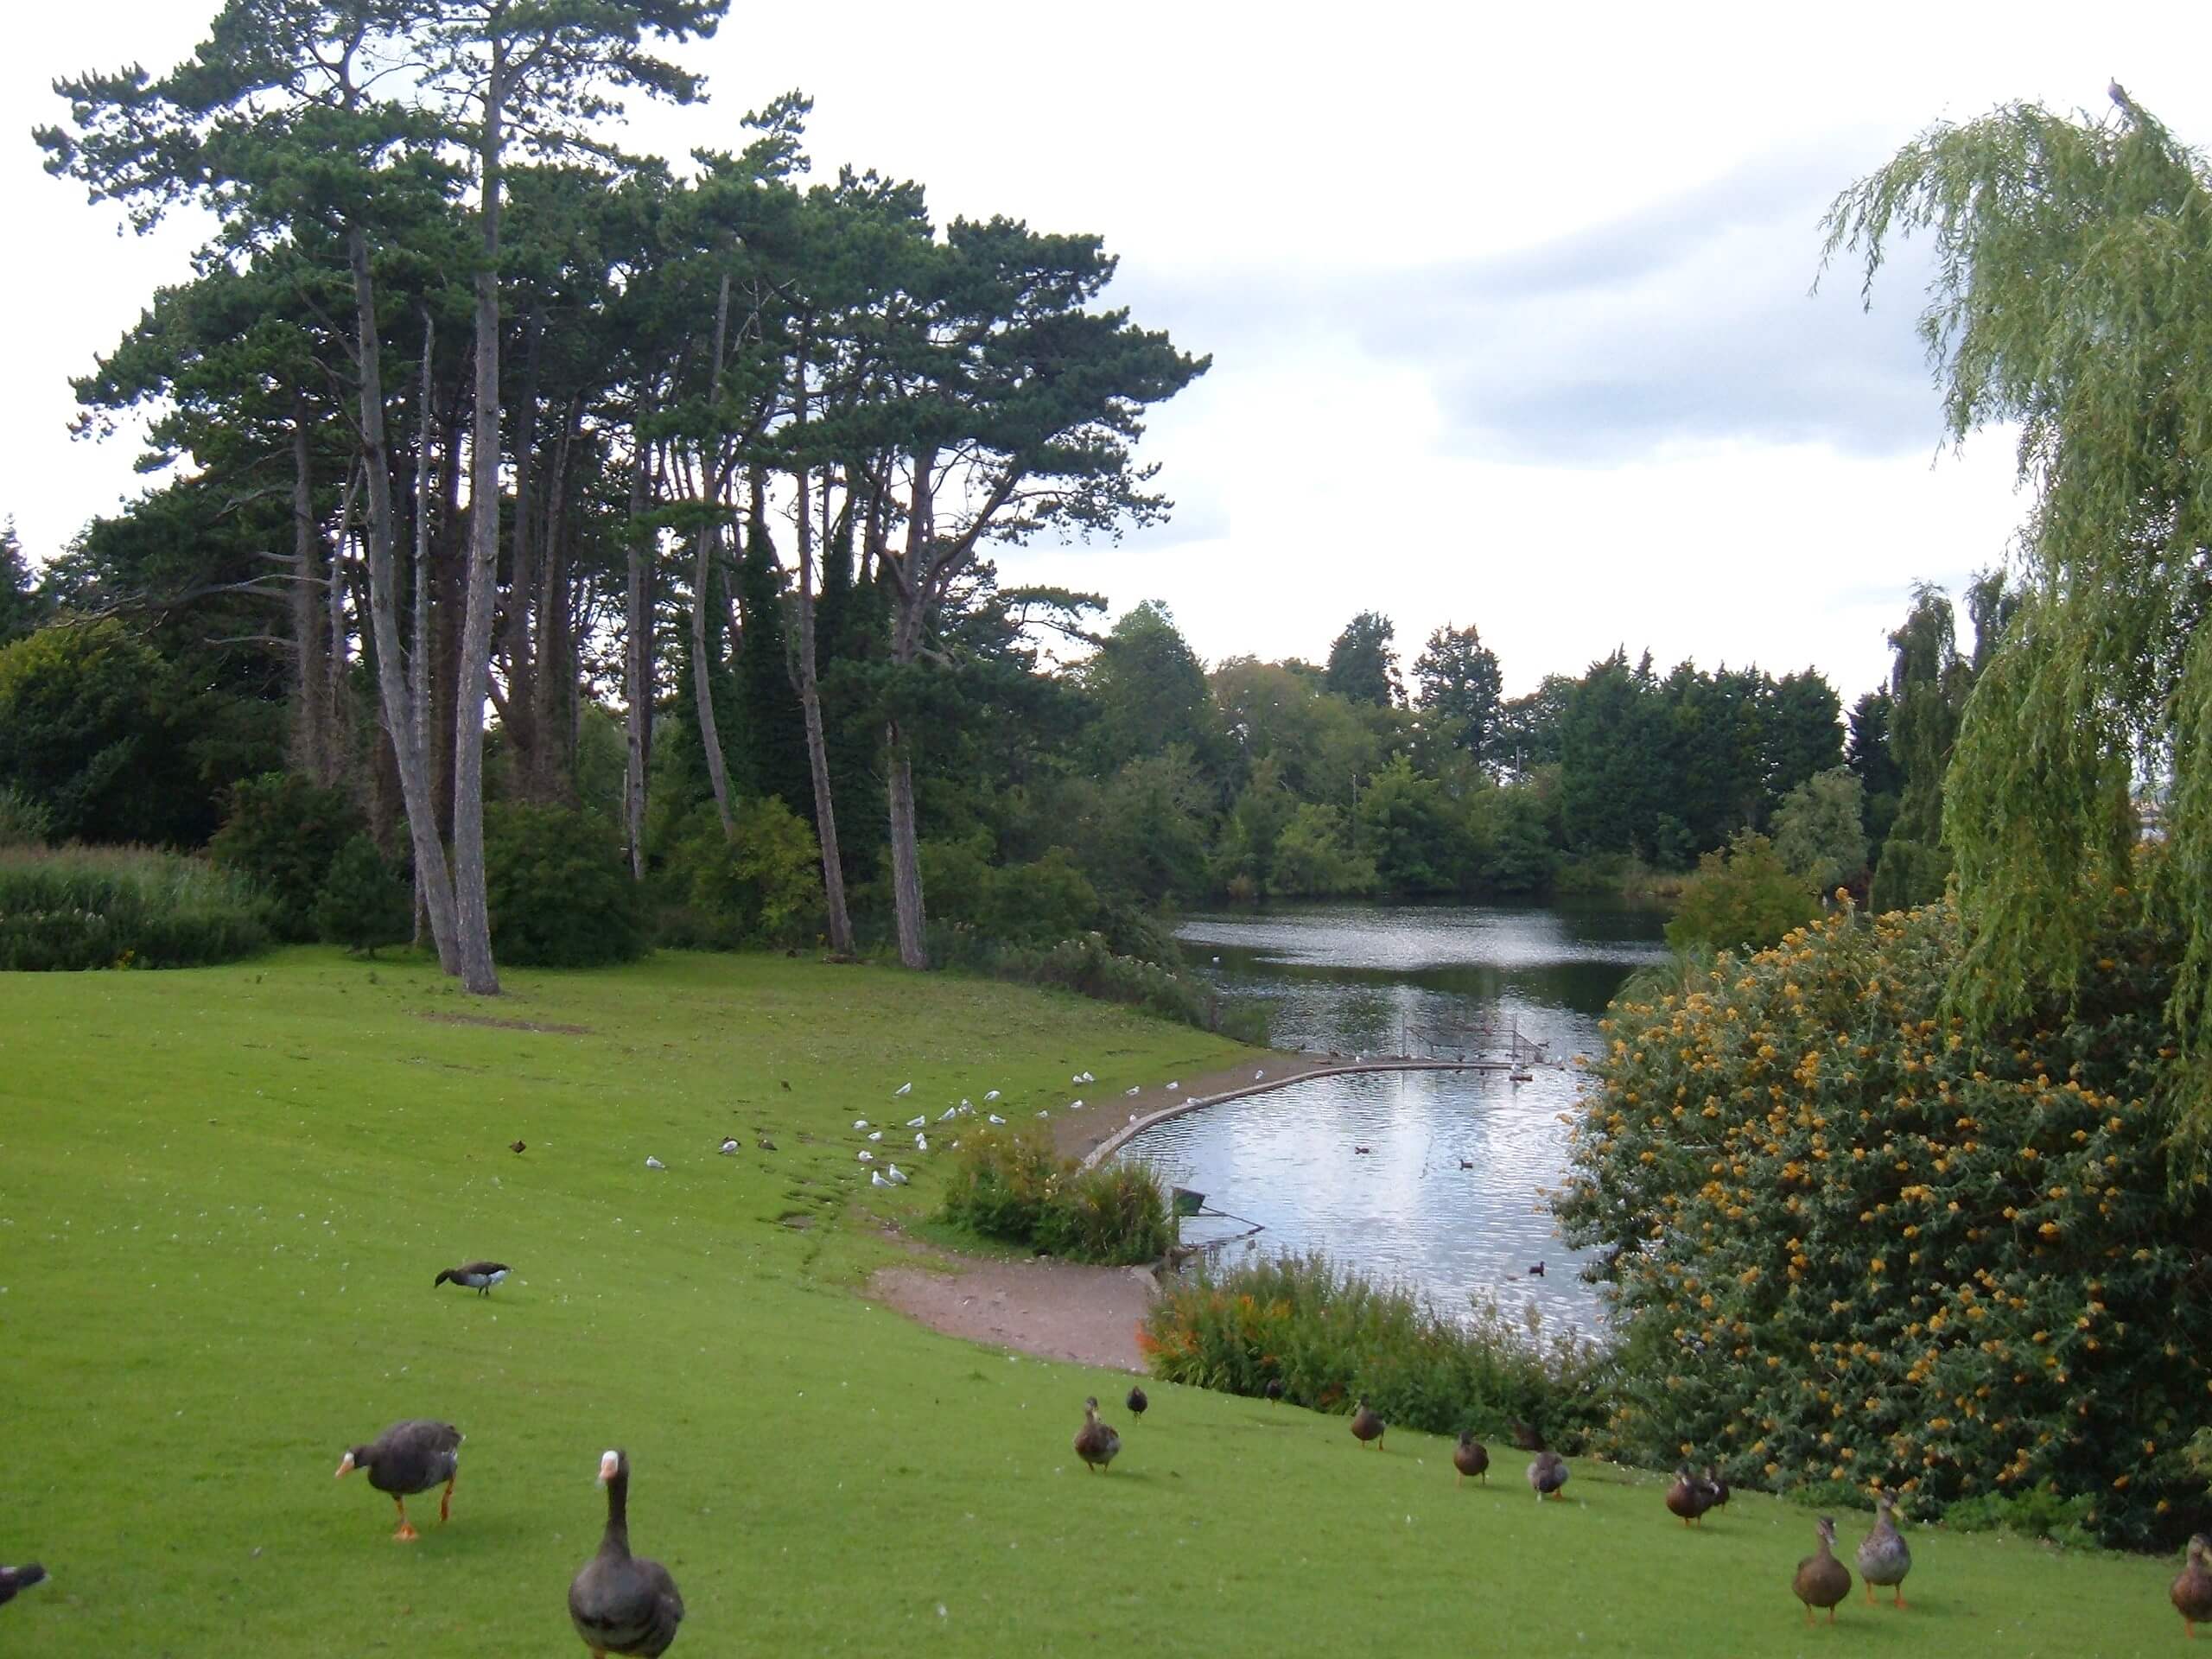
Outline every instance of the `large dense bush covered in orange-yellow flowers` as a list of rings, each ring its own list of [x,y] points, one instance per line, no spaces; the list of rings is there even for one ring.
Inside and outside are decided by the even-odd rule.
[[[1615,1254],[1613,1436],[1776,1489],[2086,1498],[2108,1542],[2205,1520],[2203,1181],[2170,1148],[2172,938],[2110,927],[2079,998],[1942,1015],[1949,907],[1717,958],[1617,1002],[1559,1199]]]

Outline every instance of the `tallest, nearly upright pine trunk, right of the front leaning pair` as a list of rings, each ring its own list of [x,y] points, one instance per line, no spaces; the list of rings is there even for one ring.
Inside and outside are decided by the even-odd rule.
[[[484,248],[476,272],[476,420],[469,429],[469,599],[453,681],[453,911],[460,982],[498,995],[491,905],[484,896],[484,699],[491,695],[491,608],[500,575],[500,100],[507,44],[491,42],[484,144],[478,153]]]

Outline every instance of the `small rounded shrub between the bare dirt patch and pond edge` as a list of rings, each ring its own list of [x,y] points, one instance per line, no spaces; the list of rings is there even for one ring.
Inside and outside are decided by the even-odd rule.
[[[1159,1261],[1175,1243],[1168,1197],[1148,1168],[1086,1170],[1035,1128],[964,1135],[938,1217],[1066,1261]]]

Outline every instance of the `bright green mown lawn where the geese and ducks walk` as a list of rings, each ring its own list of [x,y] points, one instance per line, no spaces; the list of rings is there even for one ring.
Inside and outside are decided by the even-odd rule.
[[[1223,1064],[1201,1033],[785,958],[507,980],[476,1004],[327,951],[0,975],[0,1559],[53,1571],[0,1652],[582,1652],[564,1597],[615,1444],[695,1659],[2181,1641],[2166,1562],[1918,1531],[1907,1613],[1805,1630],[1803,1511],[1739,1495],[1686,1531],[1663,1482],[1588,1462],[1540,1509],[1504,1447],[1455,1491],[1442,1440],[1367,1453],[1338,1418],[1166,1385],[1135,1425],[1121,1378],[854,1294],[891,1252],[869,1214],[931,1201],[929,1159],[867,1186],[854,1117],[993,1086],[1026,1115],[1075,1071],[1110,1099]],[[469,1256],[515,1276],[431,1290]],[[1068,1449],[1091,1391],[1124,1433],[1102,1478]],[[332,1480],[405,1416],[469,1436],[453,1522],[418,1502],[414,1546]]]

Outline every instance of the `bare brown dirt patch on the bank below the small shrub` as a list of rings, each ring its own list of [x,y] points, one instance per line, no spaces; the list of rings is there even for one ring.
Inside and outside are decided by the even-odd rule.
[[[947,1336],[1051,1360],[1144,1369],[1137,1321],[1152,1305],[1148,1270],[929,1256],[936,1265],[878,1267],[869,1294]]]

